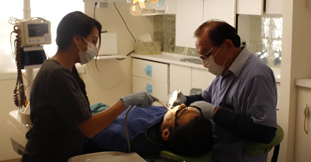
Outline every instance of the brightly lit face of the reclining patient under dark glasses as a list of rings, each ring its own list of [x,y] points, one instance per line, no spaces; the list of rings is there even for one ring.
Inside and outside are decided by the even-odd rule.
[[[185,104],[181,104],[181,105],[176,106],[173,109],[171,109],[170,112],[169,111],[166,112],[166,114],[163,118],[162,125],[161,125],[162,131],[165,128],[174,127],[176,111],[179,108],[182,108],[185,106],[186,106]],[[196,108],[194,108],[194,107],[185,108],[185,109],[181,110],[181,112],[179,112],[177,123],[178,123],[178,125],[182,126],[183,124],[188,123],[189,121],[193,120],[196,116],[199,116],[199,112],[197,112]]]

